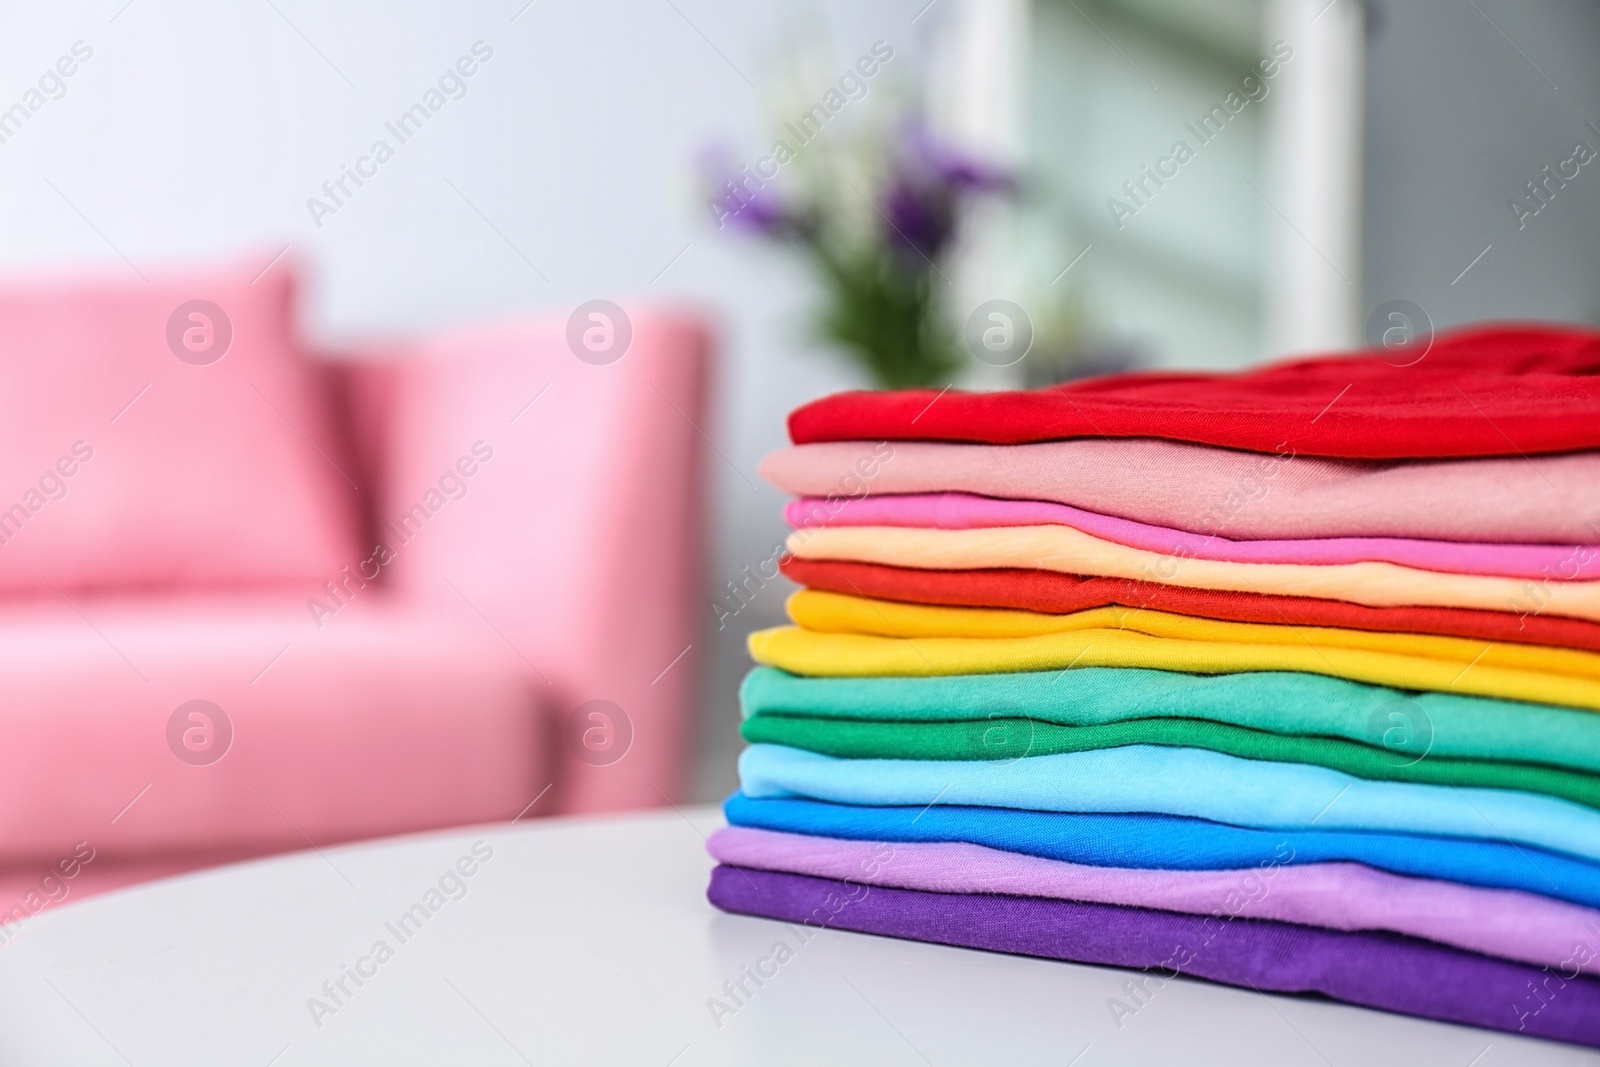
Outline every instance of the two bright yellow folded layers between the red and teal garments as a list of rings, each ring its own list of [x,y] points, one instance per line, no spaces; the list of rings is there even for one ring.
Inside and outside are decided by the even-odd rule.
[[[1600,656],[1533,645],[1221,622],[1133,608],[1066,616],[933,608],[816,590],[795,593],[789,613],[800,627],[752,633],[750,654],[802,675],[1301,670],[1402,689],[1600,710]]]

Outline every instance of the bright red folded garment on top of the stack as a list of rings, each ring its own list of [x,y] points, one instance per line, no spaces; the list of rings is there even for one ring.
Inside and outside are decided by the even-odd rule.
[[[789,416],[797,445],[1069,437],[1174,442],[1344,459],[1517,456],[1600,448],[1600,333],[1483,326],[1397,349],[1240,374],[1150,373],[1029,392],[845,392]]]

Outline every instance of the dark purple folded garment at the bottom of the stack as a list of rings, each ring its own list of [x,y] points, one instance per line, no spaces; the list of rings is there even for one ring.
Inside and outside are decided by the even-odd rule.
[[[720,865],[726,912],[859,933],[1205,977],[1600,1048],[1600,981],[1429,941],[1114,904],[890,889]],[[1594,945],[1590,945],[1590,953]],[[1589,958],[1594,958],[1592,955]]]

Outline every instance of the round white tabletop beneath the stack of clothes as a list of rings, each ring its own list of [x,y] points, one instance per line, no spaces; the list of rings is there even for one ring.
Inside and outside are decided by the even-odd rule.
[[[1374,1064],[1592,1053],[1203,982],[1118,1030],[1123,971],[789,928],[706,904],[712,808],[299,853],[69,904],[0,949],[0,1064]],[[426,921],[386,923],[482,841]],[[464,864],[472,867],[472,864]],[[454,883],[446,880],[446,888]],[[418,920],[413,920],[418,921]],[[722,1027],[707,998],[795,957]],[[323,982],[376,941],[334,1001]],[[314,1022],[309,998],[333,1008]],[[1486,1049],[1486,1051],[1485,1051]],[[1475,1059],[1477,1057],[1477,1059]]]

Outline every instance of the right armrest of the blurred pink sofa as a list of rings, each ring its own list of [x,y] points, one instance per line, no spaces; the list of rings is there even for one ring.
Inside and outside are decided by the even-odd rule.
[[[402,365],[384,419],[382,569],[416,609],[509,645],[549,691],[544,811],[659,805],[685,779],[710,334],[664,312],[632,328],[600,366],[568,349],[565,320],[438,336]],[[608,752],[582,744],[600,720],[571,723],[587,701],[626,718]]]

